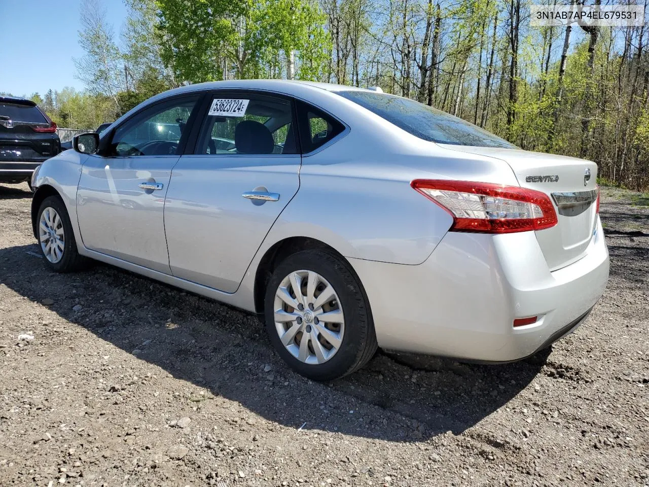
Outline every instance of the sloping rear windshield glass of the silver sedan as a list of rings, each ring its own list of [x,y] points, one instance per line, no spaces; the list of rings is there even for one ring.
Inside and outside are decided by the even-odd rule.
[[[416,137],[439,144],[517,147],[472,123],[418,101],[384,93],[336,92]]]

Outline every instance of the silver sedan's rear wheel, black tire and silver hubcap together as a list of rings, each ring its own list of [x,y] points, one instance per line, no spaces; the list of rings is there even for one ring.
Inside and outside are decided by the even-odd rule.
[[[276,351],[309,379],[348,375],[376,352],[367,297],[349,264],[333,253],[305,250],[286,257],[273,271],[264,306]]]

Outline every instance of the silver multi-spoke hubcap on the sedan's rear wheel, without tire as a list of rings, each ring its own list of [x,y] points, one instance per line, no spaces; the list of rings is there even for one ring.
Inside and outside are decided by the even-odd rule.
[[[284,347],[305,364],[322,364],[343,343],[345,316],[338,295],[324,277],[295,271],[275,293],[275,329]]]

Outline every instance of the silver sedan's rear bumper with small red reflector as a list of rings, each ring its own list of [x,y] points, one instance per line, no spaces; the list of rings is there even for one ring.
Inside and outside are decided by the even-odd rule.
[[[574,331],[609,273],[599,219],[585,256],[554,272],[533,232],[448,232],[418,266],[350,262],[381,347],[484,362],[519,360]],[[513,327],[530,316],[532,325]]]

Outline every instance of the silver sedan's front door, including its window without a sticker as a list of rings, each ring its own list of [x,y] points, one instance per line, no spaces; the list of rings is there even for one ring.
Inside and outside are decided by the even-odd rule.
[[[198,100],[185,95],[147,106],[108,135],[100,154],[88,157],[77,190],[88,249],[171,273],[164,199]]]

